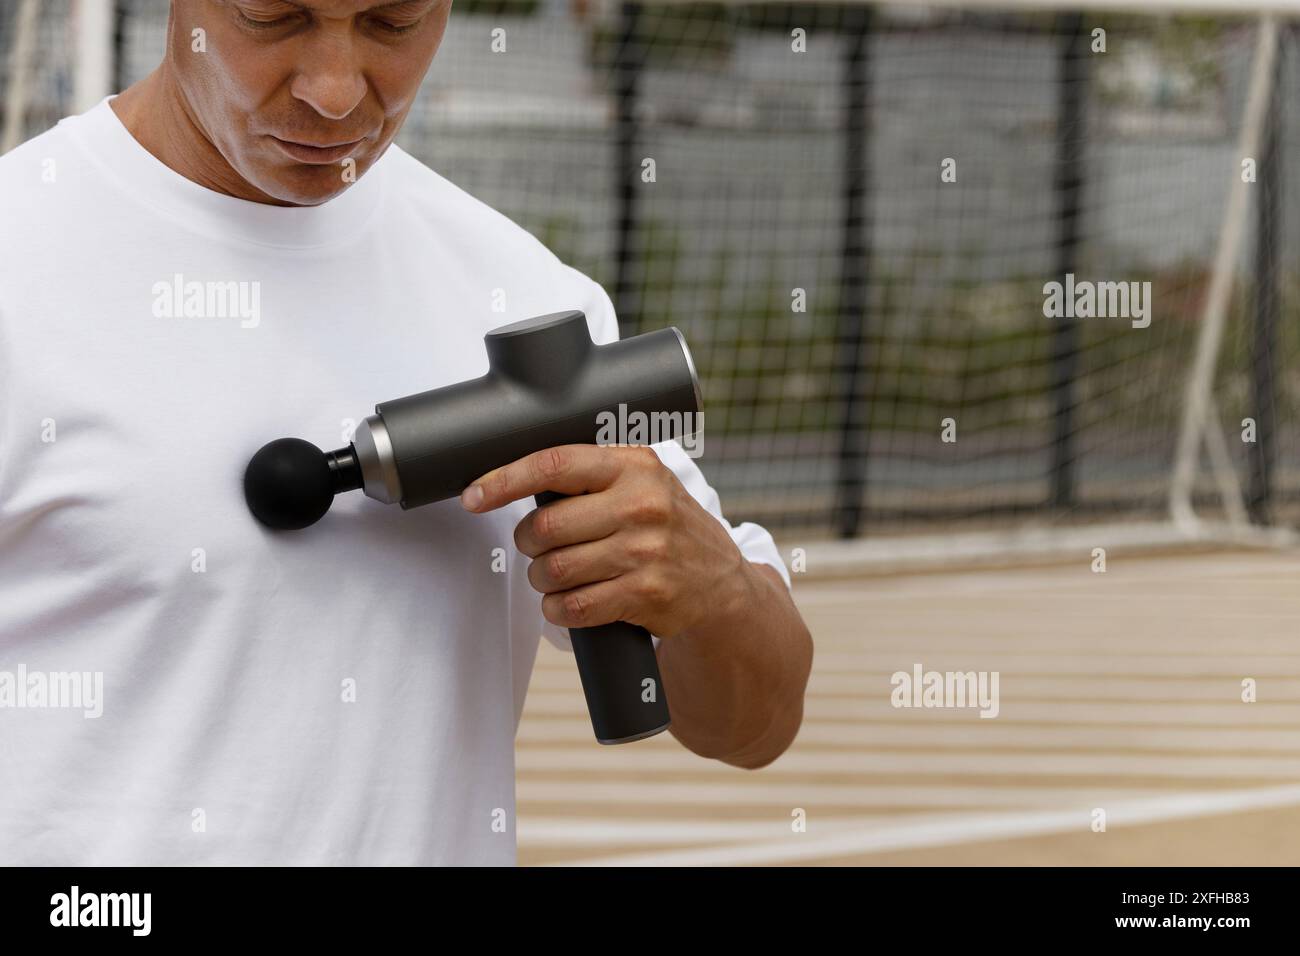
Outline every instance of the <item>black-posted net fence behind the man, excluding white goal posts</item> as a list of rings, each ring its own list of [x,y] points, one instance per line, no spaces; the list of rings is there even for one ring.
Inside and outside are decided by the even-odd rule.
[[[39,8],[27,135],[70,109],[69,4]],[[168,4],[117,9],[121,86],[161,59]],[[1162,516],[1248,176],[1214,420],[1254,518],[1286,523],[1300,57],[1283,25],[1275,153],[1240,156],[1257,30],[1249,10],[456,0],[398,142],[604,285],[623,334],[679,326],[732,520],[827,536]],[[1204,462],[1196,497],[1221,511]]]

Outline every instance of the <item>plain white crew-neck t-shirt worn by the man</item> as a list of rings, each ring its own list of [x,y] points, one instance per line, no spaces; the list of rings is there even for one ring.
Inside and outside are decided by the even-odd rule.
[[[274,533],[242,476],[568,308],[618,337],[595,282],[395,146],[311,208],[183,178],[108,100],[0,157],[0,864],[512,864],[515,730],[543,626],[567,644],[514,548],[532,501],[352,492]]]

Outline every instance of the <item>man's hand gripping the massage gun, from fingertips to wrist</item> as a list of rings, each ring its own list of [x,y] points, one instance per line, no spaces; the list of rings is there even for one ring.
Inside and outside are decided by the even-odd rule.
[[[540,507],[515,528],[552,624],[627,620],[671,639],[745,601],[748,562],[736,542],[651,447],[537,451],[480,477],[462,502],[482,512],[541,492],[581,496]]]

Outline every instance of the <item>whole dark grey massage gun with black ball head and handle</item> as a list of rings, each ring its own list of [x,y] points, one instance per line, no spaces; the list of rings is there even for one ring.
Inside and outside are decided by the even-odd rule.
[[[244,472],[254,516],[276,529],[306,528],[335,494],[355,489],[419,507],[455,498],[533,451],[595,442],[602,414],[642,412],[668,425],[672,433],[656,438],[666,441],[682,437],[701,411],[696,365],[675,328],[595,345],[586,316],[568,311],[503,325],[485,342],[485,376],[374,406],[346,449],[325,453],[302,438],[264,445]],[[562,497],[545,492],[536,502]],[[615,622],[571,628],[569,639],[597,740],[624,744],[668,727],[645,628]]]

